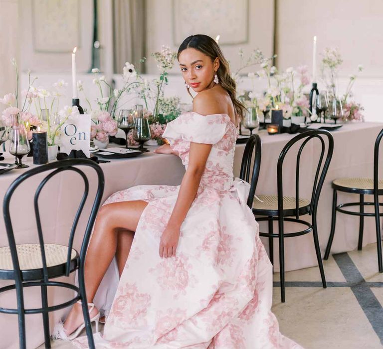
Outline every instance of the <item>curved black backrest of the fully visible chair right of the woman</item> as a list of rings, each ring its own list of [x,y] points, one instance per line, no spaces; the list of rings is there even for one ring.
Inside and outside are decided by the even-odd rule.
[[[327,147],[327,154],[325,158],[325,162],[321,171],[323,158],[325,155],[325,142],[323,140],[324,137],[327,137],[328,139],[328,147]],[[312,140],[312,139],[319,139],[321,144],[321,155],[319,157],[317,170],[315,172],[314,177],[314,184],[313,184],[313,190],[311,194],[310,199],[310,212],[309,214],[312,215],[313,213],[316,215],[319,195],[322,190],[323,182],[325,180],[327,171],[329,169],[329,165],[331,162],[331,158],[333,156],[334,151],[334,139],[333,136],[329,131],[326,130],[312,130],[307,131],[304,133],[301,133],[297,136],[295,136],[293,139],[291,139],[282,149],[281,154],[278,158],[278,164],[277,164],[277,187],[278,187],[278,211],[280,215],[283,215],[283,182],[282,182],[282,167],[283,167],[283,161],[285,159],[285,156],[289,149],[298,141],[303,140],[303,143],[299,147],[298,150],[298,156],[297,156],[297,162],[296,162],[296,174],[295,174],[295,208],[296,208],[296,218],[299,218],[299,169],[300,169],[300,160],[301,160],[301,154],[303,148],[306,146],[306,144]]]

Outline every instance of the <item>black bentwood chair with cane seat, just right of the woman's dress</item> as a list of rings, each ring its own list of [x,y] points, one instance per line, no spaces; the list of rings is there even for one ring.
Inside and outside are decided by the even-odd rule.
[[[323,158],[325,155],[325,142],[324,138],[328,139],[328,149],[325,158],[324,165],[322,167]],[[302,150],[305,145],[312,139],[319,139],[321,144],[321,155],[319,157],[317,170],[314,178],[314,185],[311,194],[311,200],[299,197],[299,170],[300,170],[300,158]],[[303,140],[297,155],[296,162],[296,176],[295,176],[295,198],[293,196],[283,196],[283,182],[282,182],[282,167],[283,161],[289,149],[298,141]],[[334,140],[330,132],[325,130],[313,130],[302,133],[291,139],[283,148],[279,155],[277,164],[277,192],[278,195],[258,195],[259,199],[253,202],[253,213],[254,215],[261,215],[267,217],[257,218],[257,221],[267,220],[268,221],[268,233],[260,232],[260,236],[266,236],[269,238],[269,253],[270,260],[273,263],[273,239],[279,239],[279,269],[280,269],[280,280],[281,280],[281,300],[285,302],[285,257],[284,257],[284,238],[294,237],[313,232],[315,252],[318,259],[319,270],[321,273],[323,288],[326,288],[325,272],[323,270],[322,256],[319,247],[318,240],[318,229],[317,229],[317,207],[319,195],[322,190],[323,182],[325,180],[327,170],[330,165],[331,158],[333,156]],[[321,170],[322,168],[322,170]],[[312,223],[306,222],[299,219],[300,215],[309,214],[312,216]],[[292,216],[292,217],[290,217]],[[293,218],[293,216],[295,216]],[[273,221],[278,221],[278,233],[273,232]],[[285,233],[284,232],[284,221],[295,222],[306,225],[307,228],[302,231]]]

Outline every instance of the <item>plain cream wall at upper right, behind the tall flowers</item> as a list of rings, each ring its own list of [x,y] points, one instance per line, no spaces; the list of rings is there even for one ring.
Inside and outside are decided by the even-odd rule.
[[[280,68],[307,64],[312,70],[312,42],[317,35],[318,53],[325,47],[338,47],[343,56],[340,93],[358,64],[364,66],[353,88],[354,99],[365,107],[366,121],[383,122],[379,112],[383,97],[382,0],[278,0],[277,17]],[[324,88],[321,80],[318,88]]]

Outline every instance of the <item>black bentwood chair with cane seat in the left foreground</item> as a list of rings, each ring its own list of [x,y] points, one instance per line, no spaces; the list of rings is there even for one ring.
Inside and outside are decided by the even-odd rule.
[[[77,251],[72,248],[72,245],[77,223],[79,221],[81,212],[84,208],[84,204],[88,196],[89,182],[86,175],[81,170],[79,170],[77,166],[89,166],[93,168],[96,171],[98,177],[97,192],[85,229],[80,254],[78,254]],[[35,174],[40,174],[48,171],[50,171],[50,173],[47,174],[46,177],[38,185],[33,200],[37,225],[38,243],[16,245],[15,235],[13,233],[9,213],[9,202],[12,197],[12,194],[15,191],[15,189],[26,179],[32,177]],[[44,238],[41,229],[40,212],[38,208],[38,198],[41,189],[44,187],[46,182],[55,174],[59,174],[64,171],[73,171],[82,177],[84,181],[84,192],[76,215],[74,217],[74,221],[69,235],[68,246],[44,244]],[[101,168],[95,162],[87,159],[69,159],[33,168],[16,178],[6,191],[2,209],[9,246],[0,248],[0,279],[14,280],[15,283],[13,285],[1,287],[0,292],[15,289],[17,296],[17,309],[0,308],[0,312],[18,315],[18,333],[20,348],[26,348],[26,314],[42,314],[45,348],[50,348],[48,313],[65,307],[69,307],[76,303],[78,300],[81,300],[82,302],[82,311],[85,319],[85,328],[88,337],[89,348],[95,348],[85,295],[84,262],[91,230],[94,224],[94,220],[96,218],[97,210],[101,202],[103,191],[104,174]],[[69,276],[69,274],[74,272],[75,270],[78,270],[79,287],[64,282],[49,281],[50,278],[56,278],[64,275]],[[31,286],[38,286],[41,288],[42,308],[24,308],[23,288]],[[77,293],[77,295],[73,299],[65,303],[49,307],[47,301],[47,286],[69,288],[74,290]]]

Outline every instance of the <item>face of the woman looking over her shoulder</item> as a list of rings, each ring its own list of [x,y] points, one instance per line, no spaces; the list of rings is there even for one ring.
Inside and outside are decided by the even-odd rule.
[[[212,62],[210,57],[189,47],[180,53],[179,62],[182,76],[194,92],[200,92],[212,86],[214,73],[219,67],[218,58]]]

